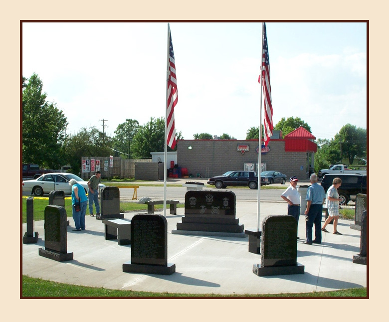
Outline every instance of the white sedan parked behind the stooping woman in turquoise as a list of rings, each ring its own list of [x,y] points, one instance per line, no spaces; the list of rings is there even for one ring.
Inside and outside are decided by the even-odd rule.
[[[88,191],[88,182],[81,179],[73,173],[46,173],[34,180],[22,181],[22,191],[29,192],[35,196],[42,196],[44,193],[50,193],[53,190],[62,190],[65,194],[72,193],[72,187],[69,184],[70,179],[75,179],[81,184],[85,191]],[[99,184],[99,189],[105,187],[104,184]]]

